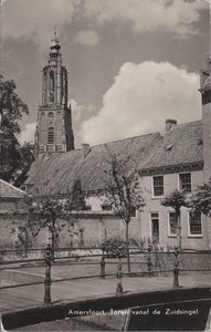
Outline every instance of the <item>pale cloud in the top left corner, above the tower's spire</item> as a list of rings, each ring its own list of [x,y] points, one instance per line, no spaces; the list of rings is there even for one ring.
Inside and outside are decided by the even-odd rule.
[[[8,0],[3,11],[2,33],[6,38],[33,38],[46,48],[53,37],[77,14],[82,0]]]

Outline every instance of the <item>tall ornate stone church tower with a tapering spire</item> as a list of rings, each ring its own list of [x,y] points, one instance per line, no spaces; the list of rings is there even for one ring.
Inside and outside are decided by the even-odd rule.
[[[38,110],[35,146],[38,156],[74,149],[72,112],[67,106],[67,70],[62,65],[56,31],[49,63],[42,71],[42,105]]]

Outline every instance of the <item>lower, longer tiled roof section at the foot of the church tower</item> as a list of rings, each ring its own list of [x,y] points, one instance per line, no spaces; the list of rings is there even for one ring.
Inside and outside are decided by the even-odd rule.
[[[66,193],[72,187],[74,178],[81,179],[85,190],[103,189],[106,183],[105,169],[109,160],[107,149],[120,158],[129,156],[140,167],[155,152],[159,139],[162,137],[159,133],[155,133],[92,146],[85,158],[82,149],[39,158],[33,163],[25,184],[33,185],[33,193],[39,191],[42,195],[54,191]]]

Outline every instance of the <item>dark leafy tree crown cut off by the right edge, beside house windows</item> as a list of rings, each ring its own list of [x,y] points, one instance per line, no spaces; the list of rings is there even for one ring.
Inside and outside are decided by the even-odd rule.
[[[208,184],[199,186],[189,197],[189,206],[192,212],[202,212],[211,216],[211,179]]]

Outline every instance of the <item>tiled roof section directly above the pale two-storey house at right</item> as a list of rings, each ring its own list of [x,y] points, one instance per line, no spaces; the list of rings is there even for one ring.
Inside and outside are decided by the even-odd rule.
[[[201,121],[177,125],[166,133],[141,169],[203,163],[202,143]]]

